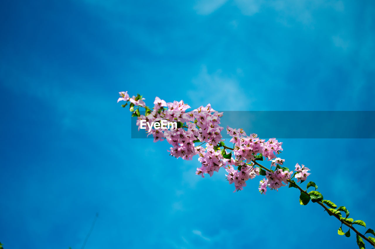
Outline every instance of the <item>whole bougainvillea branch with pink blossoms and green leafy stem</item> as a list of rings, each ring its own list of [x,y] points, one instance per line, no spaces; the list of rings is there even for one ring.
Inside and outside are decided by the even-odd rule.
[[[167,103],[164,100],[156,97],[154,107],[150,108],[145,105],[141,95],[130,96],[127,92],[120,92],[119,101],[126,101],[126,104],[121,105],[126,107],[130,102],[129,110],[132,112],[132,117],[137,117],[137,126],[142,128],[142,122],[151,122],[154,125],[148,130],[148,135],[152,135],[154,142],[163,141],[164,139],[172,146],[169,153],[176,158],[181,157],[184,160],[191,160],[193,156],[198,155],[198,161],[201,167],[196,169],[196,175],[204,177],[205,174],[210,176],[214,172],[218,172],[220,168],[224,168],[228,175],[225,175],[229,184],[235,186],[235,191],[243,190],[246,186],[246,181],[254,179],[256,176],[264,176],[259,182],[261,194],[265,194],[268,189],[276,190],[283,186],[289,188],[294,187],[300,190],[300,204],[307,205],[310,200],[321,205],[329,215],[335,216],[341,222],[341,227],[338,230],[339,235],[350,237],[350,230],[356,233],[357,245],[360,249],[365,248],[363,239],[375,248],[375,238],[366,237],[360,233],[354,224],[366,227],[362,220],[354,221],[348,218],[349,211],[346,207],[337,207],[335,203],[330,200],[323,200],[323,195],[317,191],[318,186],[315,182],[309,182],[306,190],[303,190],[297,183],[304,182],[310,175],[310,169],[305,165],[300,166],[298,163],[293,170],[283,167],[285,160],[277,157],[282,152],[282,142],[278,142],[275,138],[270,138],[267,142],[264,139],[258,138],[258,135],[253,133],[246,135],[243,129],[233,129],[226,127],[227,134],[231,136],[229,142],[233,143],[233,148],[225,145],[221,136],[224,129],[220,124],[220,117],[223,113],[218,113],[208,104],[206,107],[198,107],[197,109],[186,112],[189,105],[184,104],[181,100]],[[141,115],[139,107],[145,108],[145,114]],[[169,130],[160,129],[160,123],[164,120],[175,122],[176,127]],[[195,143],[200,143],[195,146]],[[201,145],[206,144],[205,148]],[[227,153],[226,150],[230,152]],[[257,161],[263,159],[271,162],[271,167],[261,165]],[[272,170],[275,167],[275,170]],[[297,179],[297,182],[293,179]],[[309,187],[314,187],[315,190],[307,192]],[[345,212],[345,218],[341,212]],[[349,230],[344,233],[342,225],[349,227]],[[368,229],[366,233],[371,233],[375,236],[372,229]],[[365,233],[365,234],[366,234]]]

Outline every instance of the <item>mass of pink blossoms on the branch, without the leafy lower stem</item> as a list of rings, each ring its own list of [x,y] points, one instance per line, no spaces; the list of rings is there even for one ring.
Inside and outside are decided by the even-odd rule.
[[[275,138],[268,141],[258,138],[257,134],[247,136],[243,129],[233,129],[226,127],[227,134],[231,136],[230,142],[232,147],[227,147],[223,143],[221,132],[223,127],[220,126],[220,117],[223,113],[219,113],[211,108],[211,105],[199,107],[190,112],[186,112],[189,105],[179,102],[166,102],[158,97],[155,98],[154,107],[149,108],[143,102],[142,96],[133,96],[129,98],[127,92],[120,92],[119,101],[129,101],[132,107],[144,107],[145,115],[139,114],[138,111],[138,130],[140,120],[147,122],[160,122],[161,120],[169,120],[170,122],[180,122],[180,127],[170,130],[151,129],[148,135],[153,135],[154,142],[166,140],[172,147],[168,150],[171,156],[181,157],[184,160],[191,160],[196,154],[199,155],[198,161],[201,167],[196,169],[196,175],[204,174],[210,176],[214,172],[218,172],[221,167],[226,169],[226,175],[229,184],[234,183],[235,190],[243,190],[246,181],[260,175],[263,170],[255,160],[265,158],[271,161],[275,170],[263,170],[262,175],[265,177],[260,181],[259,191],[266,193],[267,188],[278,190],[282,186],[286,186],[292,177],[293,171],[282,168],[284,159],[277,157],[281,153],[282,142],[278,142]],[[134,110],[134,109],[132,109]],[[138,110],[138,109],[137,109]],[[148,130],[146,130],[148,132]],[[147,135],[147,136],[148,136]],[[195,142],[200,143],[195,146]],[[205,143],[205,148],[200,145]],[[228,152],[231,153],[228,154]],[[232,154],[233,153],[233,154]],[[262,166],[263,167],[263,166]],[[264,168],[266,169],[266,168]],[[309,169],[297,163],[296,173],[294,177],[298,181],[305,181]]]

